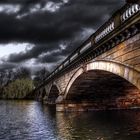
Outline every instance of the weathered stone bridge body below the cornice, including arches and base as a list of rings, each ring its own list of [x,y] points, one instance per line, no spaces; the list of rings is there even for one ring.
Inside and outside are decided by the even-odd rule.
[[[58,89],[54,98],[53,85]],[[58,111],[140,107],[140,34],[67,71],[45,89],[44,100],[56,102]]]

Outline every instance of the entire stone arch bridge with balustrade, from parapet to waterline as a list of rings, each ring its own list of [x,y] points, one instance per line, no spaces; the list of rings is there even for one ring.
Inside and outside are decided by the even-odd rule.
[[[125,5],[35,91],[57,110],[140,107],[140,6]]]

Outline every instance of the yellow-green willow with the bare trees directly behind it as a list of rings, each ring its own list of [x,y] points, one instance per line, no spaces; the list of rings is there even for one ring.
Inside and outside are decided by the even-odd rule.
[[[23,99],[33,90],[31,72],[20,67],[0,72],[0,98]]]

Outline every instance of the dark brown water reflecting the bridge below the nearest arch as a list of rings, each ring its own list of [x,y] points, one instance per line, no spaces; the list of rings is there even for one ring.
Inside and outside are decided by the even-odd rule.
[[[62,139],[139,140],[140,111],[59,113],[57,127]]]

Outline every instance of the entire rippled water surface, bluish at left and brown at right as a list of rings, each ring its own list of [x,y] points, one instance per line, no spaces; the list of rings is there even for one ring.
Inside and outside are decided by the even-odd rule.
[[[0,101],[2,140],[139,140],[140,110],[55,112],[34,101]]]

